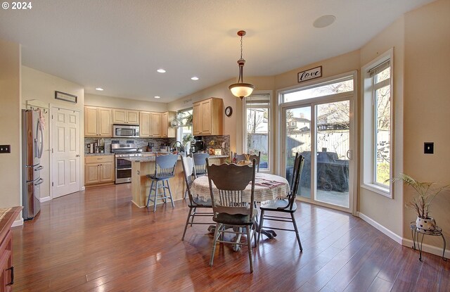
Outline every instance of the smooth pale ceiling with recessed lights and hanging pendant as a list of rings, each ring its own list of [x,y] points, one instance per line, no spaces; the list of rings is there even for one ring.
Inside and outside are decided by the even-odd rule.
[[[85,93],[167,103],[237,80],[238,30],[247,31],[245,82],[359,49],[432,1],[39,0],[28,10],[0,9],[0,39],[22,44],[23,65]],[[322,15],[336,20],[314,27]]]

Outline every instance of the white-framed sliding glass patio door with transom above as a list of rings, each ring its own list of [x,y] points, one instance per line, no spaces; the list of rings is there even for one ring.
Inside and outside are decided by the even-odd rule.
[[[336,84],[352,81],[338,80]],[[348,84],[347,84],[348,85]],[[352,84],[351,84],[352,85]],[[330,86],[330,84],[326,85]],[[323,86],[325,87],[325,86]],[[295,153],[304,156],[304,166],[297,196],[319,205],[350,210],[352,202],[352,86],[343,92],[321,93],[314,96],[309,89],[291,93],[302,96],[293,99],[284,94],[282,104],[284,169],[288,181],[292,179]],[[325,92],[325,94],[324,94]]]

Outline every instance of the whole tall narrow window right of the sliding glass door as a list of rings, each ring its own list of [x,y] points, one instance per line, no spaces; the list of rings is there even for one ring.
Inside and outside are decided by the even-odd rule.
[[[390,196],[392,178],[392,50],[363,68],[364,185]]]

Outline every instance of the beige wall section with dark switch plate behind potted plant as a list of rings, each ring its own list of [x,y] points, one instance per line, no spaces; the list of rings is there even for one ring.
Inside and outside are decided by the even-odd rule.
[[[450,1],[432,2],[405,15],[404,172],[421,182],[450,183]],[[435,153],[424,154],[423,143],[435,142]],[[405,202],[412,189],[404,189]],[[440,193],[430,210],[450,239],[450,191]],[[411,238],[404,212],[404,236]],[[442,239],[425,236],[424,243],[442,252]],[[448,245],[447,245],[448,246]],[[447,247],[447,249],[449,249]]]

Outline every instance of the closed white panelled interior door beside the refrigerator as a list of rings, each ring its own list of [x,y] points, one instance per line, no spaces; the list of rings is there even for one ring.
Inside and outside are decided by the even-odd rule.
[[[52,195],[53,198],[79,191],[79,127],[77,110],[52,108]]]

